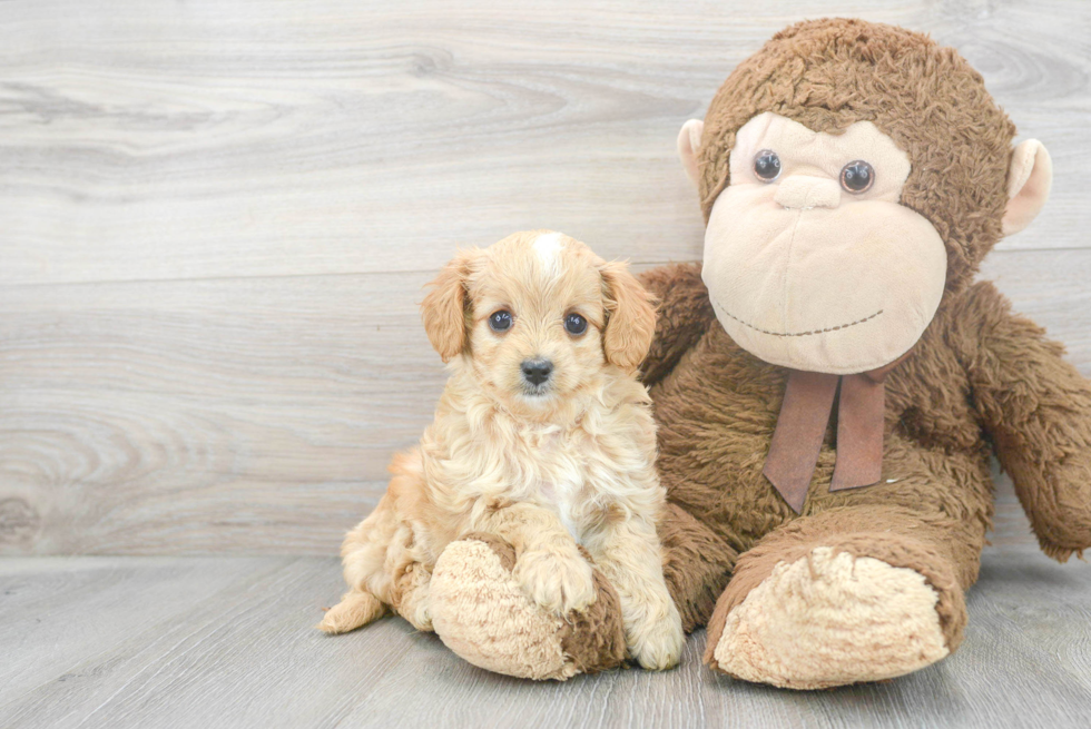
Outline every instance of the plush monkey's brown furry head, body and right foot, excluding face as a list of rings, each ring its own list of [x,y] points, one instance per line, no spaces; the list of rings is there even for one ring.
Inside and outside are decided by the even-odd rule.
[[[763,475],[788,371],[727,335],[700,266],[645,274],[661,299],[642,370],[668,490],[665,573],[686,629],[707,623],[714,669],[792,688],[889,678],[963,639],[993,516],[991,453],[1046,554],[1091,545],[1091,387],[992,284],[972,283],[1002,236],[1015,130],[955,51],[851,20],[777,35],[708,110],[706,220],[736,131],[767,111],[815,132],[866,120],[897,142],[912,161],[900,203],[943,238],[945,289],[886,378],[882,480],[830,493],[834,417],[797,514]]]

